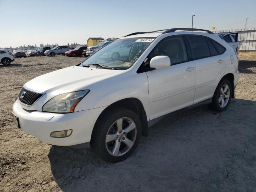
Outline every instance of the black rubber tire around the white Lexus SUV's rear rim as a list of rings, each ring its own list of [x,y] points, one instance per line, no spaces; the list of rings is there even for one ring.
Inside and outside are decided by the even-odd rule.
[[[221,95],[221,89],[223,90],[223,87],[225,86],[225,85],[227,85],[228,86],[228,88],[229,88],[229,98],[228,98],[228,102],[226,102],[226,104],[225,104],[225,106],[221,106],[221,104],[223,103],[223,100],[221,101],[221,102],[219,102],[219,99],[221,99],[221,98],[224,98],[224,97],[221,97],[220,95]],[[219,84],[218,84],[218,86],[217,86],[217,88],[216,88],[216,90],[215,90],[215,92],[214,92],[214,95],[213,95],[213,97],[212,97],[212,103],[209,105],[210,106],[210,108],[212,108],[212,109],[214,109],[214,110],[217,110],[217,111],[219,111],[219,112],[222,112],[222,111],[224,111],[224,110],[226,110],[226,108],[228,108],[228,106],[229,106],[229,104],[230,104],[230,100],[231,100],[231,98],[232,98],[232,85],[231,85],[231,82],[229,81],[229,80],[227,80],[227,79],[224,79],[224,80],[222,80]],[[225,103],[224,102],[224,103]],[[221,103],[221,104],[220,104]]]

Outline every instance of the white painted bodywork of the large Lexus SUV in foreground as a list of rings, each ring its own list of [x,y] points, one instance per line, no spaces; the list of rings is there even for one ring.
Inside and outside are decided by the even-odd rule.
[[[212,38],[226,48],[219,56],[192,60],[168,68],[137,73],[151,50],[162,39],[180,34],[198,34]],[[238,59],[232,48],[215,34],[200,32],[146,33],[124,38],[156,39],[127,70],[107,70],[72,66],[44,74],[27,82],[24,87],[44,92],[32,106],[18,100],[13,113],[20,120],[21,128],[28,134],[52,145],[70,146],[90,142],[94,124],[101,112],[110,104],[125,98],[137,98],[142,103],[147,120],[153,120],[180,108],[212,98],[220,79],[234,74],[238,82]],[[230,56],[233,57],[231,63]],[[221,62],[218,62],[221,61]],[[54,96],[77,90],[90,90],[69,114],[42,112],[42,106]],[[26,109],[26,110],[24,110]],[[35,110],[35,111],[34,111]],[[50,132],[68,130],[67,138],[52,138]]]

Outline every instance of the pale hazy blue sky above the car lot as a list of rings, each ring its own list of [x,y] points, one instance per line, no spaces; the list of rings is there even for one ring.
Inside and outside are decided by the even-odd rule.
[[[256,0],[0,0],[0,47],[86,44],[176,27],[256,27]]]

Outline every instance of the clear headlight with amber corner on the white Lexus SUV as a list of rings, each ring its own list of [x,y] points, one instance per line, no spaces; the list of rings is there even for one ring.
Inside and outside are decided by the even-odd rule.
[[[57,95],[44,104],[42,111],[54,113],[74,112],[76,105],[88,94],[88,92],[90,92],[90,90]]]

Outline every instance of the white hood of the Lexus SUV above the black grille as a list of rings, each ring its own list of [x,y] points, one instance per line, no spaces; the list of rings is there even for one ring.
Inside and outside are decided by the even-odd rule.
[[[82,89],[89,85],[121,74],[124,70],[98,69],[71,66],[38,76],[25,84],[25,87],[38,92],[54,92],[54,95]]]

